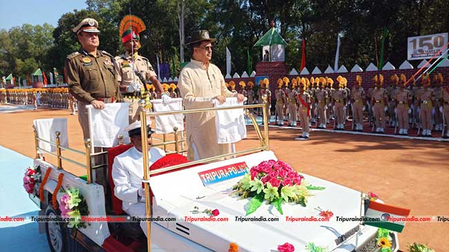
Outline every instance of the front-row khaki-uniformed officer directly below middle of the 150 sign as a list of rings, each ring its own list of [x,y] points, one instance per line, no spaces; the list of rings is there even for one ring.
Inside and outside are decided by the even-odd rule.
[[[430,88],[430,76],[424,74],[422,76],[421,84],[423,84],[424,90],[419,95],[420,116],[423,127],[421,136],[432,136],[432,110],[434,108],[433,103],[435,101],[435,93]]]

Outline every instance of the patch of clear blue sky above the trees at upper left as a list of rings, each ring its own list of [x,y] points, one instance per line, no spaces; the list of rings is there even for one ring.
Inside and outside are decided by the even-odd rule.
[[[83,8],[85,0],[0,0],[0,30],[23,23],[56,27],[62,14]]]

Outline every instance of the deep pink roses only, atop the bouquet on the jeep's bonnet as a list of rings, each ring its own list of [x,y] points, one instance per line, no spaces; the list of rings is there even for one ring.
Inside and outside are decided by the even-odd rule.
[[[251,167],[249,174],[251,175],[251,180],[258,178],[263,185],[269,182],[272,187],[301,185],[301,181],[304,178],[294,171],[290,165],[280,160],[260,162],[259,165]]]

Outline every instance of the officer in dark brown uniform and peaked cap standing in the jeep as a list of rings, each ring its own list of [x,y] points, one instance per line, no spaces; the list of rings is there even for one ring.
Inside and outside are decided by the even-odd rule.
[[[67,56],[67,83],[70,94],[78,101],[78,120],[84,138],[89,137],[86,105],[104,109],[104,103],[121,101],[119,85],[114,68],[114,57],[97,50],[99,45],[98,23],[84,19],[75,28],[82,50]]]

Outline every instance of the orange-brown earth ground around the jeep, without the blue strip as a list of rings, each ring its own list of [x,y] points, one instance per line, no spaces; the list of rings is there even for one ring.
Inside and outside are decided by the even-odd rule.
[[[0,144],[33,158],[32,120],[55,117],[68,118],[70,147],[84,150],[77,116],[55,109],[0,113]],[[250,128],[248,139],[238,143],[237,149],[258,144]],[[297,129],[270,130],[270,149],[298,171],[355,190],[375,192],[387,204],[412,209],[415,216],[449,216],[448,143],[326,132],[312,132],[310,140],[298,141],[293,140],[299,134]],[[67,156],[84,160],[75,154]],[[51,157],[47,159],[54,162]],[[83,169],[63,164],[74,174],[84,174]],[[408,222],[399,240],[403,251],[408,251],[406,246],[412,242],[449,251],[449,222]]]

